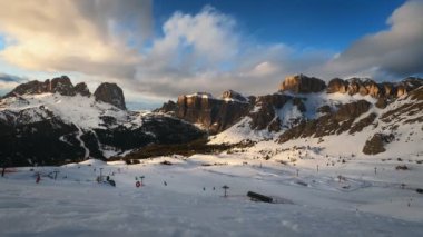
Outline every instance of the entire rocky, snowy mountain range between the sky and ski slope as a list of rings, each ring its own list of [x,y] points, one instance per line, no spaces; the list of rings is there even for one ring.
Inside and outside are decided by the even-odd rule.
[[[207,138],[272,158],[293,147],[342,156],[422,151],[423,79],[397,82],[296,75],[275,92],[183,95],[153,112],[126,109],[124,91],[101,83],[91,93],[66,76],[22,83],[0,100],[0,157],[12,166],[58,165],[141,152],[150,145]],[[264,152],[274,148],[272,154]]]

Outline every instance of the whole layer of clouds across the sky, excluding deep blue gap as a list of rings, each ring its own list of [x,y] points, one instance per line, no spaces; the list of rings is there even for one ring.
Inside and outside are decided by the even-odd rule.
[[[343,52],[263,43],[213,7],[197,13],[177,11],[154,34],[151,4],[151,0],[0,1],[4,36],[0,62],[75,73],[90,88],[114,80],[131,100],[205,90],[219,95],[227,89],[263,95],[276,91],[286,76],[301,72],[326,80],[422,73],[422,1],[407,1],[390,17],[387,30],[365,36]]]

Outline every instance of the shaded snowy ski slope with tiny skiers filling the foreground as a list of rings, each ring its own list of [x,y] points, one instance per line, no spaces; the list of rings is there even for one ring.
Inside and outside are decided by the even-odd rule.
[[[421,236],[423,165],[279,161],[220,154],[13,169],[0,178],[0,236]],[[116,187],[95,181],[100,168]],[[252,201],[249,190],[276,203]]]

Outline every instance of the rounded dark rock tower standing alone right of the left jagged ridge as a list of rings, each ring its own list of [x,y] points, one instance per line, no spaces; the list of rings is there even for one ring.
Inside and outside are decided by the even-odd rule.
[[[94,92],[94,96],[96,100],[114,105],[119,109],[126,109],[124,91],[116,83],[101,83]]]

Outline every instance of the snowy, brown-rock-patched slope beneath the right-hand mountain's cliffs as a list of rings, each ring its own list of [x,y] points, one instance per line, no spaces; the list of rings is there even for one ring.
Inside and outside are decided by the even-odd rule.
[[[377,100],[370,96],[288,93],[301,98],[305,109],[301,111],[299,106],[293,105],[293,100],[288,100],[282,108],[275,108],[273,120],[278,124],[279,130],[270,131],[268,127],[253,129],[252,118],[247,116],[229,129],[212,136],[209,144],[252,140],[265,141],[275,149],[313,146],[334,156],[353,154],[365,157],[401,157],[423,154],[423,100],[417,98],[422,91],[423,88],[415,89],[410,95],[393,100],[385,108],[378,108]],[[327,111],[322,112],[323,107],[327,107]],[[260,108],[255,110],[259,112]],[[382,140],[372,144],[372,138],[376,135],[381,135]],[[363,152],[365,147],[372,148],[370,150],[374,152]]]

